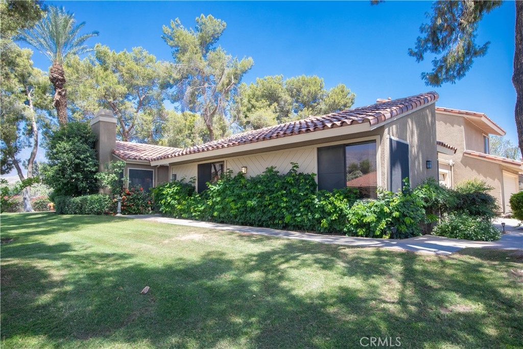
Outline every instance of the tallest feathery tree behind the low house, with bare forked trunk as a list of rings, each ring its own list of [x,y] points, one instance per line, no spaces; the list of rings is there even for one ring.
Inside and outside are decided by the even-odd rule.
[[[178,18],[163,26],[162,38],[173,49],[179,81],[174,102],[181,111],[194,112],[208,130],[204,141],[223,137],[237,122],[231,104],[252,58],[233,58],[217,46],[226,24],[213,16],[196,18],[196,28],[185,28]]]

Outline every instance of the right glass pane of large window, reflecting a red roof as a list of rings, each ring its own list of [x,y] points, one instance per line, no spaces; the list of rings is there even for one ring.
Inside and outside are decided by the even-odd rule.
[[[377,198],[376,141],[345,145],[346,185],[362,198]]]

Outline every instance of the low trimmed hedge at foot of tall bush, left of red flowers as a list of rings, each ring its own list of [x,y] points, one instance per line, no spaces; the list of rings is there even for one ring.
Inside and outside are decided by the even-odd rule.
[[[111,199],[107,194],[78,197],[59,196],[54,199],[54,209],[61,215],[103,215],[109,211]]]

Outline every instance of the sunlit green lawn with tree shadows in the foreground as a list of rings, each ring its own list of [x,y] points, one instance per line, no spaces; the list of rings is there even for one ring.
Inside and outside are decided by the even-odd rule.
[[[52,213],[2,215],[1,227],[3,348],[353,348],[370,336],[523,347],[514,252],[434,256]]]

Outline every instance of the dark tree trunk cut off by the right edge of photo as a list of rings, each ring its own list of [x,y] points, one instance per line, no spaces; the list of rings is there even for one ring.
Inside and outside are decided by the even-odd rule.
[[[518,145],[523,154],[523,1],[516,1],[516,29],[514,50],[514,75],[512,83],[516,89],[514,117],[518,131]]]

